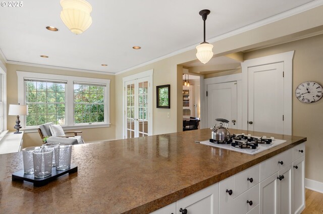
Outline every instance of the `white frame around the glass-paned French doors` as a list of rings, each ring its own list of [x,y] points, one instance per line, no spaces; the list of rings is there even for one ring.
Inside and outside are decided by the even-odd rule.
[[[152,78],[152,75],[153,75],[153,69],[151,70],[148,70],[148,71],[144,71],[144,72],[141,72],[141,73],[138,73],[138,74],[133,74],[133,75],[130,75],[130,76],[127,76],[127,77],[123,77],[122,78],[122,83],[123,83],[123,92],[122,92],[122,137],[125,138],[125,83],[127,81],[131,81],[131,80],[136,80],[136,79],[140,79],[140,78],[144,78],[144,77],[147,77],[148,78],[148,83],[150,84],[150,86],[148,87],[148,135],[152,135],[152,96],[153,96],[153,78]]]

